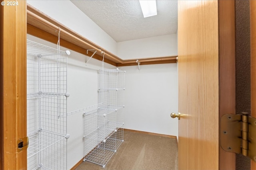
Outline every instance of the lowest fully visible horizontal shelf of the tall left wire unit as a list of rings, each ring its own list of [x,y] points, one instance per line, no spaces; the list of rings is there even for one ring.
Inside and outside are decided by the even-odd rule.
[[[28,134],[29,145],[27,149],[27,158],[34,156],[42,150],[65,139],[64,135],[57,135],[45,131],[35,131]]]

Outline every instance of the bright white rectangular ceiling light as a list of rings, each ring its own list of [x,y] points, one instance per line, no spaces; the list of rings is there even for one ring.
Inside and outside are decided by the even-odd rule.
[[[144,18],[157,15],[156,0],[139,0]]]

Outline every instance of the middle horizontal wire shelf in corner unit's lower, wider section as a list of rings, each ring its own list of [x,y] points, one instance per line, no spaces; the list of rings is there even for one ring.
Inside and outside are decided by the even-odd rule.
[[[124,123],[108,122],[102,127],[98,127],[95,131],[85,135],[90,139],[96,139],[98,141],[106,141],[111,135],[113,135]]]

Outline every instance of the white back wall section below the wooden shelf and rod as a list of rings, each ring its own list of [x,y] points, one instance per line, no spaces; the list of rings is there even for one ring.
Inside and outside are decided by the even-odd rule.
[[[177,64],[120,67],[125,70],[124,128],[178,137]]]

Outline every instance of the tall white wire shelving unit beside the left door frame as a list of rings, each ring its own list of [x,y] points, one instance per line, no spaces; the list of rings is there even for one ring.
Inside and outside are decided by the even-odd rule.
[[[27,40],[28,169],[67,168],[67,54]]]

